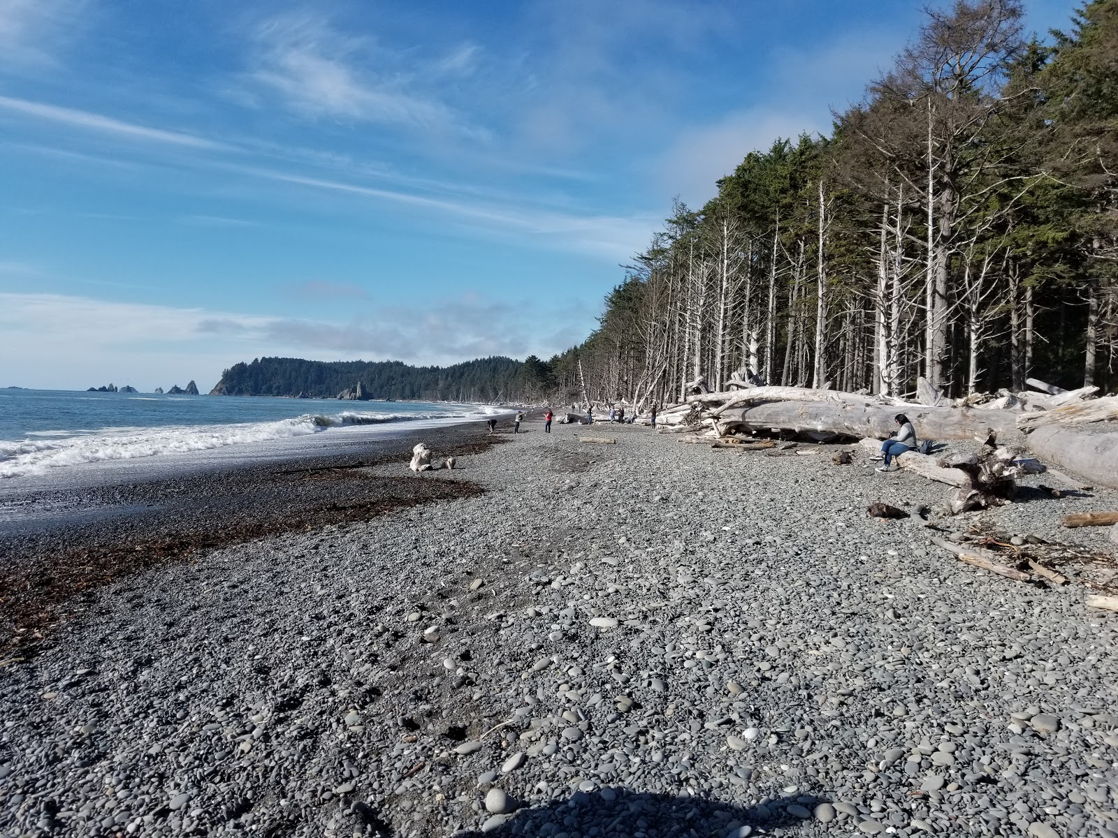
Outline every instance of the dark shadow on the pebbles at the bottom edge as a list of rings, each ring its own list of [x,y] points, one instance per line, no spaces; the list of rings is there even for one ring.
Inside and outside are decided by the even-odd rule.
[[[805,815],[826,802],[812,794],[774,800],[764,806],[739,807],[719,800],[690,794],[636,792],[627,789],[601,788],[590,792],[576,791],[569,798],[553,800],[536,808],[517,811],[504,822],[500,816],[486,822],[486,831],[457,832],[456,838],[494,838],[511,836],[567,835],[633,835],[646,838],[669,836],[711,836],[738,838],[757,834],[759,828],[795,832]],[[788,807],[794,808],[792,812]],[[751,827],[741,829],[741,827]],[[596,830],[596,831],[595,831]],[[740,831],[739,831],[740,830]]]

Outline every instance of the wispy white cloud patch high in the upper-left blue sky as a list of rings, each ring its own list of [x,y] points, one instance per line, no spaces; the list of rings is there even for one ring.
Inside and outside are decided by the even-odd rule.
[[[253,44],[249,77],[304,115],[484,134],[437,97],[413,89],[413,76],[369,37],[344,36],[320,18],[286,16],[259,26]],[[444,60],[461,72],[471,56],[459,51]]]

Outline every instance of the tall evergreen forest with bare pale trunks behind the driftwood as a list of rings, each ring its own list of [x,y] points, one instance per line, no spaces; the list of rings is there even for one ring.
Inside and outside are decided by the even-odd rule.
[[[830,136],[746,156],[676,202],[552,360],[590,398],[673,401],[703,375],[949,396],[1118,385],[1118,0],[1026,39],[1016,0],[959,0]]]

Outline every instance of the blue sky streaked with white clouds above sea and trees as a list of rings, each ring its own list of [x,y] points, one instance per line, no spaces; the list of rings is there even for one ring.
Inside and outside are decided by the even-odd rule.
[[[549,358],[923,4],[0,0],[0,387]]]

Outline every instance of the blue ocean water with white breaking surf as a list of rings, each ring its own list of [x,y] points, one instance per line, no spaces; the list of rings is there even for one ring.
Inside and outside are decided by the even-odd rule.
[[[227,447],[247,456],[300,437],[503,412],[445,402],[6,389],[0,390],[0,479],[168,455],[181,461],[190,453]]]

